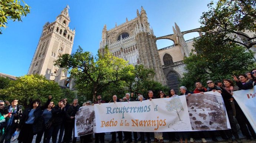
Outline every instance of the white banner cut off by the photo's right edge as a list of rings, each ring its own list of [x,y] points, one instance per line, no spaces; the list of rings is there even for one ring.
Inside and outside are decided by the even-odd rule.
[[[234,99],[256,132],[256,86],[250,90],[239,90],[233,93]]]

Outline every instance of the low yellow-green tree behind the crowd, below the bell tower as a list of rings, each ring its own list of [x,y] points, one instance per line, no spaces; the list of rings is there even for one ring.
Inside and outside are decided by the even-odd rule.
[[[53,101],[61,98],[61,88],[58,83],[47,80],[38,74],[25,75],[15,81],[10,81],[8,86],[0,90],[0,98],[4,100],[18,99],[19,104],[27,108],[32,100],[40,99],[45,103],[52,95]]]

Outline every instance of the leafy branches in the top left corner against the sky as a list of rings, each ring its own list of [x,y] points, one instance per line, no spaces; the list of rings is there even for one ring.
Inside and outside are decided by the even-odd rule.
[[[24,1],[22,0],[24,3]],[[19,0],[0,0],[0,34],[1,27],[6,27],[7,20],[22,21],[22,16],[30,13],[30,7],[24,3],[20,4]]]

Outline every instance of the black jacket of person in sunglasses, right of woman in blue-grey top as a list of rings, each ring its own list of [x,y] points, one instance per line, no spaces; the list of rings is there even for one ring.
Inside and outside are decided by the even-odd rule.
[[[63,120],[66,117],[66,109],[60,108],[59,105],[53,107],[52,109],[52,118],[50,119],[52,122],[52,125],[61,125]]]

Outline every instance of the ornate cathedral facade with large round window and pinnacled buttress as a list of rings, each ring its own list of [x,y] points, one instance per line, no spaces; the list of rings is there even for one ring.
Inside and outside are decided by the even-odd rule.
[[[114,56],[128,60],[129,64],[143,64],[146,68],[154,69],[154,80],[167,85],[159,53],[157,51],[156,37],[148,23],[147,13],[143,7],[137,10],[137,17],[131,21],[107,30],[102,30],[100,49],[108,45]]]

